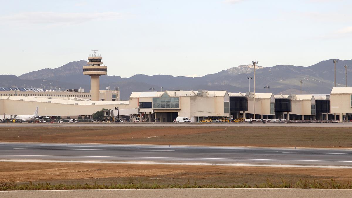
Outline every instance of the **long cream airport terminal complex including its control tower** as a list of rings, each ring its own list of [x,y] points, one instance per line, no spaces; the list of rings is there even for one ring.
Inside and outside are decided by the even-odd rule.
[[[107,74],[102,57],[94,53],[83,66],[91,77],[91,91],[82,89],[44,91],[40,88],[0,88],[0,115],[30,115],[39,106],[40,116],[91,117],[102,109],[136,110],[145,122],[173,122],[188,117],[192,122],[206,118],[253,118],[253,93],[227,91],[132,92],[120,101],[120,92],[99,90],[99,76]],[[330,94],[255,94],[255,119],[327,120],[352,119],[352,87],[334,87]],[[115,113],[113,113],[116,116]],[[112,116],[112,115],[110,115]],[[0,117],[1,118],[1,117]]]

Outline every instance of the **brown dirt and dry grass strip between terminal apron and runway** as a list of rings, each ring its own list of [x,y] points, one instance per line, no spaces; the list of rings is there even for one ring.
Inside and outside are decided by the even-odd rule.
[[[180,144],[352,148],[350,128],[313,127],[1,127],[1,142]]]

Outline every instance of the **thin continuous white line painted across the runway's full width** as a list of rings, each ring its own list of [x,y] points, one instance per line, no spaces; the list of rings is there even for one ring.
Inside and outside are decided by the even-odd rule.
[[[201,157],[136,157],[136,156],[85,156],[85,155],[0,155],[0,156],[34,156],[34,157],[115,157],[115,158],[158,158],[158,159],[200,159],[200,160],[268,160],[268,161],[309,161],[309,162],[352,162],[335,160],[284,160],[284,159],[241,159],[241,158],[201,158]]]

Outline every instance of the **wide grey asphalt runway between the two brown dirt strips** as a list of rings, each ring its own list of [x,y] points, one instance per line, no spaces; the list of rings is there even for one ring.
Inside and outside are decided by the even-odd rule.
[[[352,166],[352,149],[0,143],[0,159]]]

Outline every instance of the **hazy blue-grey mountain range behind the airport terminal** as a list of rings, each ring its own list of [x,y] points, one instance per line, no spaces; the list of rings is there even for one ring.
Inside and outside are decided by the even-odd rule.
[[[90,90],[90,77],[82,74],[82,67],[87,61],[80,60],[69,62],[55,69],[41,69],[20,76],[0,75],[0,87],[24,87],[44,88],[61,90],[84,88]],[[344,65],[352,66],[352,60],[338,60],[336,65],[337,86],[345,86]],[[352,68],[348,68],[351,72]],[[197,90],[207,89],[212,91],[227,90],[228,92],[249,91],[248,76],[253,76],[253,65],[243,65],[222,70],[215,74],[202,77],[186,77],[171,75],[143,75],[137,74],[130,78],[104,75],[100,77],[100,89],[106,87],[119,87],[121,100],[129,98],[132,92],[149,91],[155,88],[161,90]],[[274,94],[300,93],[300,82],[303,80],[302,94],[327,94],[331,92],[334,84],[333,60],[320,61],[312,66],[284,66],[256,68],[256,92],[266,92],[265,86],[269,86],[268,92]],[[352,76],[349,75],[349,82]],[[350,83],[351,84],[351,83]],[[253,91],[253,79],[251,79],[251,91]]]

